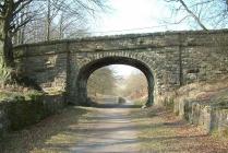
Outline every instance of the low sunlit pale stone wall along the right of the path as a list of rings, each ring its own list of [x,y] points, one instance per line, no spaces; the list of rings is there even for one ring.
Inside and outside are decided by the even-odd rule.
[[[228,108],[191,99],[175,102],[175,113],[190,123],[203,128],[206,132],[218,131],[228,136]]]

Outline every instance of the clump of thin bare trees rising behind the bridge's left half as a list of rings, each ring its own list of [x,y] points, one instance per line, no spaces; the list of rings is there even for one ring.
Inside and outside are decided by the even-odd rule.
[[[33,21],[26,24],[24,40],[17,43],[34,43],[43,40],[74,38],[89,35],[87,21],[104,11],[106,0],[44,0],[34,1],[41,8]],[[37,25],[39,24],[39,26]],[[40,35],[37,35],[40,34]],[[16,38],[15,38],[16,39]]]

